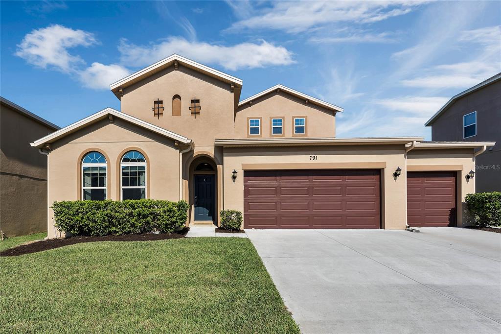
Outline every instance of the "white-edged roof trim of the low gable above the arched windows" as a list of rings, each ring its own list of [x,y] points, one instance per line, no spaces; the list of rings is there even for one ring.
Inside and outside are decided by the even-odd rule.
[[[160,135],[163,135],[165,137],[177,140],[183,144],[190,144],[191,139],[188,139],[180,134],[174,133],[172,131],[166,130],[164,128],[161,128],[159,126],[153,125],[151,123],[145,122],[139,118],[136,118],[134,116],[124,114],[123,112],[120,112],[118,110],[115,110],[113,108],[106,108],[101,111],[96,112],[95,114],[90,115],[89,117],[86,117],[84,119],[81,119],[79,121],[76,121],[73,124],[70,124],[66,127],[63,127],[62,129],[53,132],[51,134],[46,135],[45,137],[42,137],[38,140],[35,140],[34,142],[30,143],[33,147],[39,147],[41,148],[44,146],[46,143],[52,143],[58,139],[61,139],[70,133],[73,133],[75,131],[78,131],[88,125],[91,125],[93,123],[96,123],[102,119],[107,118],[109,115],[112,115],[114,117],[123,119],[127,122],[133,123],[137,126],[140,126],[142,128],[148,129],[152,132],[158,133]]]

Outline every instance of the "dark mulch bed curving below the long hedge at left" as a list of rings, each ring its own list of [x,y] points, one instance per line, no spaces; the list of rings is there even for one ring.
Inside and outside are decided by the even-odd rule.
[[[0,253],[0,256],[18,256],[45,251],[48,249],[59,248],[68,245],[79,244],[82,242],[98,242],[98,241],[152,241],[165,239],[181,239],[188,233],[189,227],[185,227],[174,233],[145,233],[145,234],[127,234],[127,235],[107,235],[104,237],[71,237],[61,239],[48,239],[31,242],[28,244],[16,246],[7,249]]]

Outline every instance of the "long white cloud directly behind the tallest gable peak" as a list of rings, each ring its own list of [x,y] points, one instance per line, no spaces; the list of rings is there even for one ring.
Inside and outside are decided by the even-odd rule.
[[[150,43],[145,46],[122,40],[118,49],[122,63],[129,66],[149,65],[174,53],[233,71],[294,63],[292,52],[263,40],[260,43],[245,42],[223,46],[198,41],[190,42],[182,37],[169,37],[159,43]]]

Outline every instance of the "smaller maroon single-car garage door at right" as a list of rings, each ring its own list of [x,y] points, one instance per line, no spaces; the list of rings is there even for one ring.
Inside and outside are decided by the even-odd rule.
[[[407,173],[407,224],[456,225],[456,173]]]

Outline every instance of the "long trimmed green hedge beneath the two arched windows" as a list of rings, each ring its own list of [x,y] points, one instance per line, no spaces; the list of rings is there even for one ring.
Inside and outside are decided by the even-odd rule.
[[[188,217],[186,201],[63,201],[52,209],[55,226],[72,236],[171,233]]]

